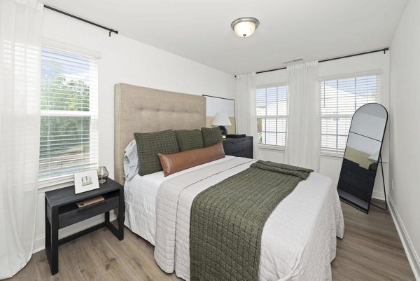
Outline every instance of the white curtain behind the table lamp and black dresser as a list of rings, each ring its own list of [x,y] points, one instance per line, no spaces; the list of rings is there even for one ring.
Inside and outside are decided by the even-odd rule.
[[[253,137],[253,158],[258,159],[258,128],[255,95],[257,82],[255,72],[237,75],[237,95],[235,99],[237,134]]]

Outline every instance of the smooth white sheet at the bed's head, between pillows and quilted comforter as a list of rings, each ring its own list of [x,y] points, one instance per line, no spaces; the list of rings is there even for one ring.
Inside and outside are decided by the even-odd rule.
[[[168,177],[164,176],[163,171],[147,174],[143,177],[136,174],[132,179],[125,181],[124,184],[125,226],[148,240],[148,242],[151,242],[152,245],[155,245],[156,197],[160,184],[167,179],[172,179],[209,165],[217,165],[232,158],[235,158],[235,156],[225,156],[225,158],[210,163],[191,167],[176,174],[170,174]]]

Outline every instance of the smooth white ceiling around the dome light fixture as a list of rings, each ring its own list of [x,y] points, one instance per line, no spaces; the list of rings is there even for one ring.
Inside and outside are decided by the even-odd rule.
[[[387,47],[407,0],[45,0],[132,39],[230,74]],[[64,15],[63,15],[64,16]],[[247,38],[230,29],[251,16]],[[106,32],[104,36],[107,36]],[[118,36],[118,35],[113,35]]]

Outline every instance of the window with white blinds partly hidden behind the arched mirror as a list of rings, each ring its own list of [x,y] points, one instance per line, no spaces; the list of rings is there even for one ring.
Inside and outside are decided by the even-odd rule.
[[[354,112],[380,101],[379,75],[321,81],[321,151],[344,153]]]

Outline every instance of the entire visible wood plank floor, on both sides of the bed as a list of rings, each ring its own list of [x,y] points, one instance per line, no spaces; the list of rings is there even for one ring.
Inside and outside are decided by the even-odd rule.
[[[345,203],[342,209],[344,239],[337,241],[332,280],[414,280],[389,212],[371,207],[367,215]],[[8,280],[181,280],[160,270],[153,249],[128,228],[121,242],[102,228],[59,247],[56,275],[41,251]]]

